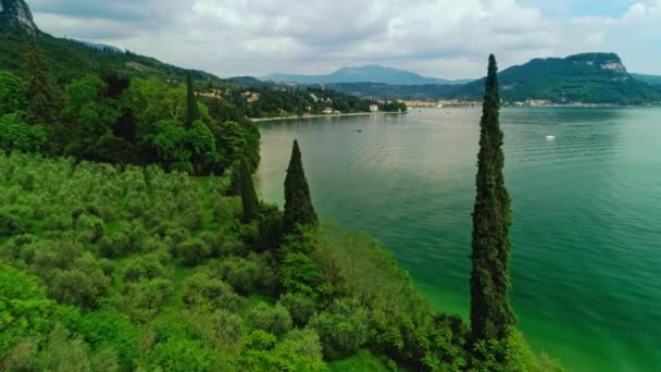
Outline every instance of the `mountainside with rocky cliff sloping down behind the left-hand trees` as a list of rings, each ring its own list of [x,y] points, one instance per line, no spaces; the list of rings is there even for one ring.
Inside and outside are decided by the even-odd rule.
[[[98,73],[102,67],[125,76],[182,82],[190,73],[196,80],[221,80],[205,72],[180,69],[114,47],[52,37],[39,30],[24,0],[0,0],[0,66],[18,75],[25,73],[27,46],[35,42],[59,83]]]

